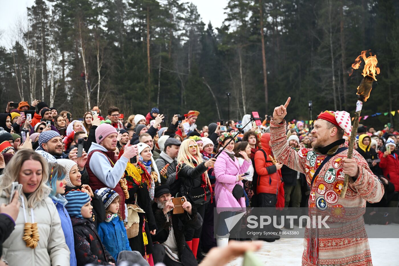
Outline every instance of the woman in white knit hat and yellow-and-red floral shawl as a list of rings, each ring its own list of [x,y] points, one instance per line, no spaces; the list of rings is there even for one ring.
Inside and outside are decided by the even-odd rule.
[[[129,227],[127,228],[127,234],[130,248],[140,252],[150,265],[154,265],[152,260],[153,246],[151,235],[155,234],[157,227],[151,208],[151,200],[154,199],[154,188],[155,182],[158,179],[158,169],[156,166],[151,167],[153,159],[150,147],[145,143],[138,143],[137,147],[137,162],[130,163],[130,161],[128,161],[124,172],[126,189],[122,187],[125,194],[127,194],[125,200],[128,206]],[[148,151],[150,153],[149,158],[147,157]],[[119,152],[119,158],[123,153],[124,147]],[[162,171],[161,174],[165,175]],[[133,227],[130,228],[130,218],[133,216],[131,214],[132,211],[137,212],[138,218],[140,219],[138,222],[137,234],[132,233]]]

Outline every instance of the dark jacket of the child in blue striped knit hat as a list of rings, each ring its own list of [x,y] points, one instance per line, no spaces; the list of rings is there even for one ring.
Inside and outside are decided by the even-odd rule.
[[[114,258],[105,249],[97,230],[89,219],[71,217],[77,265],[89,263],[109,265]]]

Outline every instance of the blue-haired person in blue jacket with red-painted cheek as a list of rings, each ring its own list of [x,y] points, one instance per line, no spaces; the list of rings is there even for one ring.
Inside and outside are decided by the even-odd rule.
[[[75,256],[75,244],[73,239],[73,228],[71,223],[71,218],[69,217],[68,211],[65,209],[67,200],[61,194],[65,193],[65,175],[66,170],[62,165],[57,163],[49,164],[49,180],[47,185],[51,188],[51,193],[49,197],[53,200],[55,207],[57,208],[59,218],[61,219],[61,227],[64,232],[65,242],[71,252],[70,265],[76,266],[76,256]]]

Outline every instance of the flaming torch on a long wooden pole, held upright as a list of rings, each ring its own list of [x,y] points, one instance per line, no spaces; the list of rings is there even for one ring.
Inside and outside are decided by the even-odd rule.
[[[356,134],[356,132],[358,132],[361,107],[363,106],[363,103],[365,103],[367,99],[370,97],[371,86],[373,85],[373,81],[377,81],[375,75],[379,74],[379,67],[377,67],[378,63],[377,57],[373,56],[371,53],[369,53],[370,54],[369,57],[366,57],[367,52],[368,51],[362,51],[360,56],[356,58],[355,63],[352,64],[353,69],[358,69],[361,63],[361,59],[364,60],[364,68],[362,73],[363,79],[361,80],[360,85],[358,87],[358,92],[356,93],[358,95],[358,101],[356,102],[356,112],[353,121],[352,136],[350,138],[349,149],[348,149],[349,159],[352,159],[353,146],[355,144],[355,139],[356,139],[356,137],[353,134],[354,133]],[[352,73],[350,73],[349,75],[352,75]],[[348,189],[348,183],[349,183],[349,175],[345,175],[344,187],[340,195],[342,199],[345,198],[346,190]]]

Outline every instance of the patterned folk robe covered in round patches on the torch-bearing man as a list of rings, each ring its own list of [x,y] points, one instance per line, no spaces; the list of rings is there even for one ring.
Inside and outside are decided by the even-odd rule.
[[[286,123],[277,124],[273,120],[270,123],[271,148],[277,159],[295,171],[306,175],[306,182],[310,187],[312,177],[324,159],[324,155],[317,153],[313,149],[293,149],[288,146],[286,137]],[[337,145],[328,152],[328,155],[334,154],[339,147],[348,147],[345,144]],[[304,252],[302,254],[302,265],[345,265],[360,266],[373,265],[371,252],[364,229],[363,213],[366,201],[379,202],[384,194],[384,187],[377,177],[371,172],[365,159],[354,150],[352,159],[356,160],[359,167],[359,175],[355,182],[350,178],[348,191],[344,199],[341,194],[344,174],[342,173],[342,164],[340,161],[345,159],[348,149],[338,153],[326,163],[319,174],[315,177],[314,183],[310,188],[309,210],[323,212],[326,205],[330,210],[338,208],[339,212],[332,213],[334,222],[342,224],[338,229],[327,230],[328,233],[339,235],[340,231],[350,232],[350,235],[344,238],[325,238],[316,233],[315,238],[308,243],[308,238],[304,238]],[[345,210],[350,210],[352,216],[345,216]],[[353,216],[353,211],[358,211]],[[305,236],[310,234],[306,228]],[[314,230],[313,230],[314,231]],[[312,234],[314,236],[314,234]],[[346,238],[345,238],[346,237]],[[315,242],[317,246],[315,246]],[[309,250],[308,250],[309,249]],[[314,259],[314,252],[318,250],[317,259]],[[308,251],[313,256],[308,256]]]

